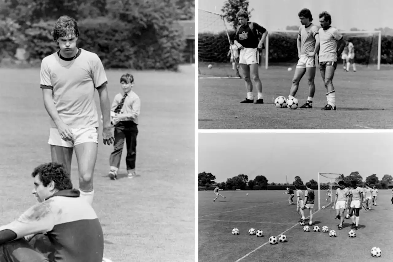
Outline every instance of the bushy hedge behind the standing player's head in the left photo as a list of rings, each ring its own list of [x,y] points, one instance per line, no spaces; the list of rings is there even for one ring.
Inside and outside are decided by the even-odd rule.
[[[51,37],[54,23],[40,22],[22,32],[25,49],[30,54],[29,61],[41,60],[58,49]],[[5,22],[0,24],[7,26]],[[160,28],[153,24],[143,27],[138,23],[99,17],[79,21],[78,27],[78,46],[95,52],[106,68],[177,70],[184,61],[183,33],[170,24],[162,24]],[[6,36],[7,29],[2,30]],[[0,50],[13,52],[12,56],[19,45],[15,37],[0,38]]]

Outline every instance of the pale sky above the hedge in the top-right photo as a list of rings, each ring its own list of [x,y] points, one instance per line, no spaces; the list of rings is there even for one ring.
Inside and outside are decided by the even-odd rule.
[[[226,0],[199,0],[198,9],[221,14]],[[332,26],[343,30],[356,27],[373,31],[375,28],[393,27],[393,1],[391,0],[249,0],[251,21],[269,30],[285,30],[286,26],[300,26],[298,13],[303,8],[310,9],[314,23],[318,15],[328,11],[332,16]],[[202,15],[198,15],[202,19]],[[206,19],[206,18],[205,18]],[[198,21],[200,24],[201,21]]]

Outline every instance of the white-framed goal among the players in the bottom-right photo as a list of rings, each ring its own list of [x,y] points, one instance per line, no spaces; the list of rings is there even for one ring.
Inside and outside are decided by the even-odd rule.
[[[344,180],[342,174],[336,173],[318,173],[318,210],[321,207],[331,208],[334,203],[335,190],[338,188],[338,182]],[[327,192],[330,190],[330,197]]]

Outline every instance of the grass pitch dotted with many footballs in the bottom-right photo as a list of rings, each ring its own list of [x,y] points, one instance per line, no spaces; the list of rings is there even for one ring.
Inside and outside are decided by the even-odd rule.
[[[199,191],[199,262],[391,261],[391,190],[379,191],[378,205],[371,211],[360,210],[359,230],[355,238],[348,236],[351,220],[344,220],[344,228],[337,229],[339,222],[334,219],[335,210],[331,208],[316,212],[313,223],[335,230],[337,237],[313,232],[312,228],[310,232],[303,232],[303,227],[296,223],[299,220],[296,205],[288,205],[288,195],[282,192],[221,191],[226,199],[220,197],[213,203],[215,195],[212,191]],[[250,195],[246,196],[246,193]],[[318,209],[318,202],[315,206]],[[308,216],[307,211],[305,215]],[[240,235],[231,234],[235,227]],[[250,236],[250,228],[262,229],[264,236]],[[288,242],[268,244],[270,236],[282,233]],[[370,255],[374,246],[382,250],[381,257]]]

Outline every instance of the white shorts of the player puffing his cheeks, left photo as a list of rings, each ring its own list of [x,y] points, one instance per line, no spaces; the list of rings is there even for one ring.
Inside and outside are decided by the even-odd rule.
[[[78,144],[86,142],[95,142],[98,144],[97,127],[71,128],[71,131],[73,133],[73,140],[66,141],[61,138],[57,128],[50,128],[48,144],[52,146],[63,146],[65,148],[73,148]]]

